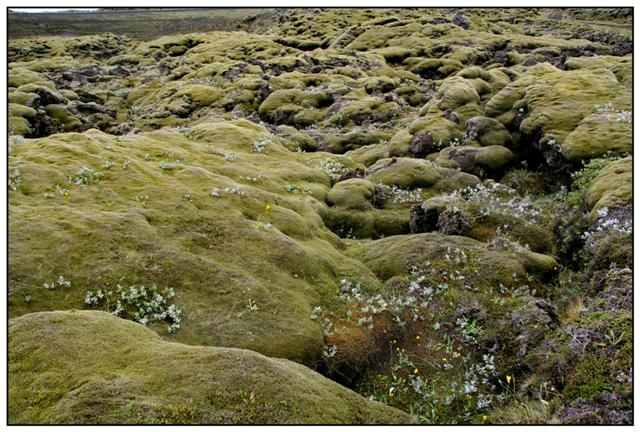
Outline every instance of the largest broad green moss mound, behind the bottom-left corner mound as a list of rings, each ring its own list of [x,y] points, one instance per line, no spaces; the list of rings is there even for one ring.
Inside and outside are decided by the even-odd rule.
[[[81,307],[87,290],[120,279],[153,282],[174,286],[180,307],[189,311],[189,324],[170,337],[314,364],[322,337],[308,320],[311,305],[334,291],[335,275],[351,265],[363,268],[335,249],[335,235],[318,216],[317,200],[324,201],[330,179],[305,163],[307,155],[291,153],[251,122],[207,122],[198,130],[198,140],[175,128],[127,137],[93,130],[16,147],[11,166],[23,174],[11,198],[10,285],[18,296],[10,301],[11,315]],[[253,151],[265,137],[271,142],[263,152]],[[225,160],[229,154],[237,159]],[[111,169],[103,167],[106,160]],[[261,171],[262,163],[272,169]],[[163,170],[167,165],[178,169]],[[84,166],[103,172],[99,183],[81,187],[68,180]],[[287,193],[286,184],[308,188],[317,200]],[[57,195],[56,185],[68,196]],[[43,211],[52,204],[57,211]],[[50,235],[36,234],[45,232]],[[314,247],[305,246],[311,241]],[[125,265],[118,264],[121,253],[129,254]],[[45,256],[47,266],[34,271],[33,260]],[[271,269],[268,280],[259,276],[265,269]],[[48,272],[71,278],[71,291],[42,289]],[[29,304],[20,301],[27,291]],[[210,296],[218,300],[203,300]],[[249,299],[258,312],[247,310]]]

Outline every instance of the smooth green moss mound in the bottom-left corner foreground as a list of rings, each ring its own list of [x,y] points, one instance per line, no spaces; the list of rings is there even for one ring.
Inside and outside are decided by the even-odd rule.
[[[9,331],[12,424],[409,422],[296,363],[164,342],[104,312],[29,314]]]

